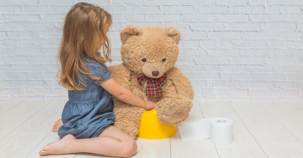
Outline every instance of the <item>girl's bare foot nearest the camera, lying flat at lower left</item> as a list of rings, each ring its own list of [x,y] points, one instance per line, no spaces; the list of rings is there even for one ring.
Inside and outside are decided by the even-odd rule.
[[[49,155],[49,154],[66,154],[71,153],[70,144],[76,138],[68,134],[63,137],[61,140],[47,144],[42,150],[39,151],[39,154],[42,155]]]

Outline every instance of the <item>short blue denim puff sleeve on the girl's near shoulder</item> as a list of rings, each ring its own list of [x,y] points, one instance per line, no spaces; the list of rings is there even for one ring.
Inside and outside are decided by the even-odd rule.
[[[99,64],[97,62],[92,62],[88,64],[88,69],[91,71],[92,76],[94,77],[102,77],[100,80],[95,80],[94,84],[100,85],[102,81],[107,81],[109,78],[111,78],[111,74],[108,71],[107,67]]]

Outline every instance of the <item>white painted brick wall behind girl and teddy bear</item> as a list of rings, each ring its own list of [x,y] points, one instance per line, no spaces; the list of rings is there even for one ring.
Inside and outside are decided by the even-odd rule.
[[[57,84],[62,23],[78,0],[0,0],[0,100],[66,99]],[[181,31],[176,66],[203,100],[303,100],[303,0],[90,0],[129,24]]]

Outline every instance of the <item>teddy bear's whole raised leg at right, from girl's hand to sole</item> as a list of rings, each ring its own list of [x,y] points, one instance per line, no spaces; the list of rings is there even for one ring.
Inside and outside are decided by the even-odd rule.
[[[185,96],[176,95],[160,100],[155,109],[162,124],[177,124],[189,116],[192,100]]]

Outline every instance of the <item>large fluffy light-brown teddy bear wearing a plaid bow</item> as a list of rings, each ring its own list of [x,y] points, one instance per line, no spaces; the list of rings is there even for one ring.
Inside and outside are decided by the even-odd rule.
[[[189,79],[175,67],[180,32],[171,26],[128,25],[121,32],[122,64],[112,77],[142,99],[158,100],[154,107],[162,124],[176,125],[189,116],[194,91]],[[144,108],[112,97],[114,126],[136,138]]]

